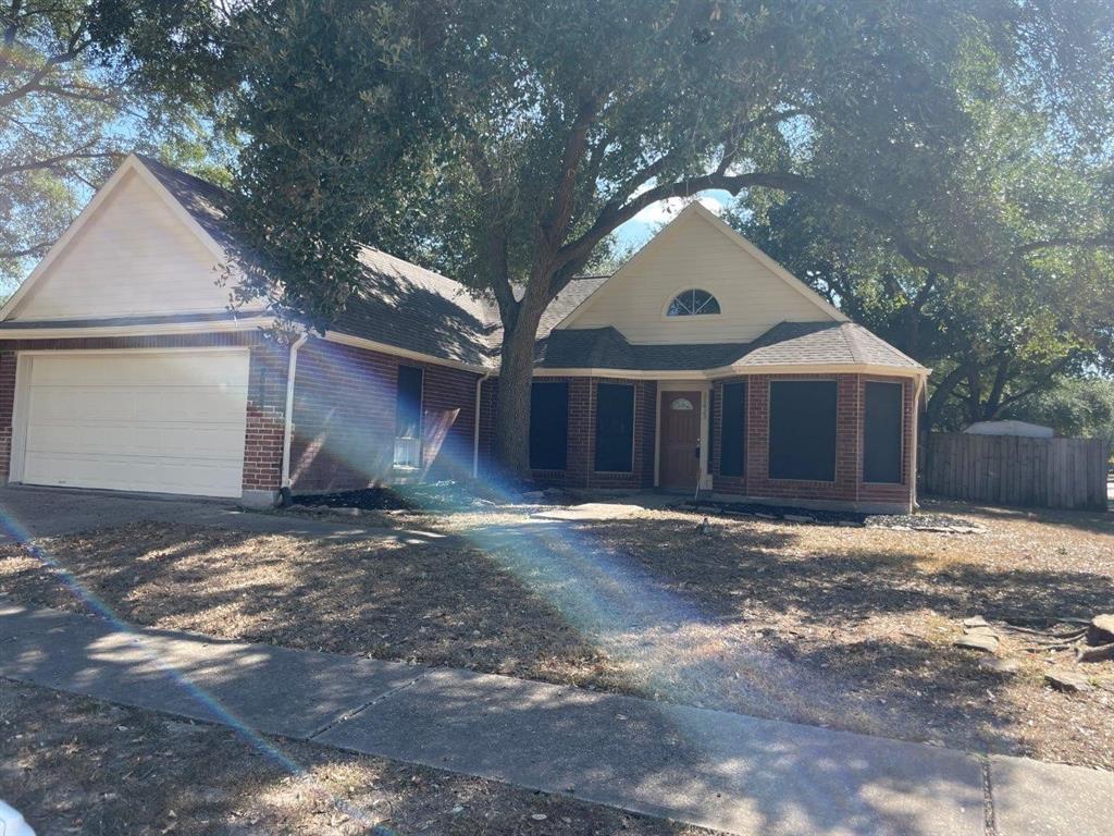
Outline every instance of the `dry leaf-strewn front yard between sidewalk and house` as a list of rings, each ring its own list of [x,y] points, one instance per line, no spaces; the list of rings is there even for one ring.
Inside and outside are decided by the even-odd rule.
[[[45,543],[126,620],[1114,769],[1114,662],[1006,628],[1114,609],[1114,519],[936,506],[949,535],[639,511],[398,516],[414,544],[141,524]],[[80,607],[14,546],[0,593]],[[952,645],[983,615],[997,657]],[[1082,671],[1064,693],[1049,669]]]

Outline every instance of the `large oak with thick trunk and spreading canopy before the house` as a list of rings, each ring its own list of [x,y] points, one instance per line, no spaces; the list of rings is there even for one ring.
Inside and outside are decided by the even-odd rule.
[[[657,201],[800,194],[948,275],[1114,241],[1059,216],[968,235],[950,200],[967,97],[1008,89],[1062,142],[1102,147],[1111,23],[1105,0],[270,0],[227,35],[247,143],[234,216],[281,270],[277,294],[255,289],[319,325],[358,282],[356,239],[490,293],[496,455],[524,475],[541,313]]]

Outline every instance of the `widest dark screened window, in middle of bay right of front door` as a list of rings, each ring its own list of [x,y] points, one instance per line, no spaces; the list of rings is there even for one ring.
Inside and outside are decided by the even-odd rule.
[[[836,381],[770,383],[770,477],[836,480]]]

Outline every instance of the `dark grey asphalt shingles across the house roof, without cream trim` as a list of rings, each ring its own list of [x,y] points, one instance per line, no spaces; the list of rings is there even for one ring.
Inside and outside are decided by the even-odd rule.
[[[222,208],[227,196],[224,189],[150,157],[139,159],[202,229],[244,257],[247,251]],[[372,246],[362,246],[358,257],[364,268],[364,286],[349,300],[333,330],[471,366],[496,364],[502,334],[490,298]],[[736,363],[759,369],[799,364],[922,368],[851,322],[782,322],[753,342],[670,346],[635,346],[614,328],[555,330],[607,278],[574,279],[557,294],[538,327],[538,366],[644,371],[701,371]]]

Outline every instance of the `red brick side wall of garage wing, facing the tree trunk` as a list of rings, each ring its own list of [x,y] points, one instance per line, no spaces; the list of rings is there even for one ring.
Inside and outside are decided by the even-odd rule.
[[[399,366],[423,369],[422,468],[397,472]],[[297,356],[291,479],[299,490],[368,487],[401,476],[471,475],[473,372],[311,339]]]

